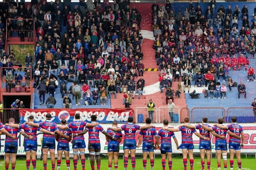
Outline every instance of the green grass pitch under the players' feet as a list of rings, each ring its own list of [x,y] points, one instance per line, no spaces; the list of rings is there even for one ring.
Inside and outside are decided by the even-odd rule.
[[[172,170],[183,170],[183,162],[182,162],[182,157],[180,156],[176,156],[174,155],[174,157],[172,158],[173,160],[173,164],[172,164]],[[247,158],[243,157],[242,158],[242,170],[256,170],[256,164],[255,164],[255,157],[253,156],[249,156]],[[223,170],[223,160],[221,160],[221,169]],[[51,166],[51,161],[48,159],[47,161],[47,170],[51,170],[52,166]],[[86,170],[91,170],[90,167],[90,160],[86,159],[85,161],[86,165],[85,165],[85,169]],[[43,162],[40,160],[37,160],[37,166],[36,166],[37,170],[43,170]],[[0,170],[4,170],[4,161],[1,160],[0,163]],[[96,168],[96,161],[95,161],[95,168]],[[9,170],[11,169],[11,165],[9,165]],[[55,163],[55,169],[57,169],[57,161]],[[73,170],[73,161],[71,159],[70,161],[70,169]],[[77,170],[81,170],[81,162],[80,160],[78,160],[77,163]],[[166,159],[166,170],[168,170],[168,160]],[[188,160],[188,170],[190,169],[190,164],[189,164],[189,160]],[[206,164],[206,160],[205,160],[205,170],[207,169],[207,164]],[[17,160],[17,164],[16,164],[16,168],[15,170],[26,170],[26,162],[25,159],[18,159]],[[33,170],[32,168],[32,163],[30,163],[30,170]],[[61,170],[66,170],[66,163],[65,163],[65,159],[62,159],[61,162]],[[101,170],[108,170],[108,160],[107,158],[102,158],[101,159]],[[112,170],[114,170],[114,166],[112,164]],[[123,159],[119,159],[118,162],[118,170],[124,170],[124,161]],[[129,159],[128,162],[128,170],[131,170],[131,160]],[[136,170],[143,170],[143,165],[142,165],[142,159],[141,157],[137,157],[136,158]],[[149,158],[147,159],[147,170],[150,170],[150,162],[149,162]],[[162,170],[162,163],[161,163],[161,158],[156,157],[155,158],[155,164],[154,164],[154,170]],[[201,170],[201,162],[200,162],[200,158],[199,157],[194,157],[194,170]],[[218,170],[217,168],[217,160],[215,158],[213,158],[211,160],[211,170]],[[230,166],[229,166],[229,159],[228,159],[228,170],[230,170]],[[238,166],[237,166],[237,161],[236,159],[234,160],[234,170],[238,170]]]

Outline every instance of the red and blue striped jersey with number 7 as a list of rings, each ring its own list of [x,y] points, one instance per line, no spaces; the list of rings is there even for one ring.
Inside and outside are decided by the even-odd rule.
[[[75,121],[72,121],[71,123],[67,124],[66,126],[71,129],[72,134],[78,134],[84,130],[84,127],[86,126],[86,124],[87,124],[86,121],[75,120]],[[73,140],[74,139],[84,140],[84,136],[83,135],[74,136]]]

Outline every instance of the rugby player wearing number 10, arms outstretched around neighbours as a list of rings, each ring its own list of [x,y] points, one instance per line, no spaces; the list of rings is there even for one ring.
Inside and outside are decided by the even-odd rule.
[[[184,123],[185,124],[189,123],[189,117],[184,118]],[[192,138],[193,133],[196,136],[198,136],[199,138],[204,139],[204,140],[210,140],[210,138],[204,137],[204,136],[200,135],[198,132],[196,132],[195,129],[190,129],[185,126],[180,126],[178,128],[163,127],[163,129],[169,130],[172,132],[181,131],[182,139],[181,139],[181,145],[179,146],[179,149],[182,149],[184,170],[187,169],[188,153],[189,153],[189,161],[190,161],[190,170],[193,170],[193,165],[194,165],[194,158],[193,158],[194,145],[193,145],[193,138]]]

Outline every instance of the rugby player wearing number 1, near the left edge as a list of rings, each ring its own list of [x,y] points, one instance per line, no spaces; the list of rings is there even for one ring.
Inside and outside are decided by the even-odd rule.
[[[10,124],[14,124],[14,122],[15,122],[14,118],[9,119]],[[25,138],[29,138],[30,140],[33,139],[33,137],[31,135],[27,135],[24,131],[20,130],[19,128],[14,128],[8,125],[4,126],[4,128],[6,129],[6,131],[9,132],[9,134],[16,137],[15,139],[13,139],[13,138],[10,138],[9,136],[6,136],[5,145],[4,145],[5,169],[6,170],[9,169],[9,163],[10,163],[10,157],[11,157],[11,169],[14,170],[16,165],[16,155],[18,151],[18,137],[17,137],[18,132],[22,136],[24,136]]]

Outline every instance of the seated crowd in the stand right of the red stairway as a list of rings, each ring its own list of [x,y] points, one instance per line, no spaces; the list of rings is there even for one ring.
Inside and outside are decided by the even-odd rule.
[[[235,87],[229,71],[240,71],[242,67],[248,70],[247,81],[255,81],[254,68],[249,66],[248,58],[255,57],[256,16],[248,21],[246,5],[241,11],[238,6],[235,9],[221,6],[214,15],[215,8],[214,0],[206,11],[190,2],[184,12],[177,13],[171,3],[164,6],[155,1],[152,4],[153,48],[161,70],[161,93],[163,87],[172,86],[172,81],[181,81],[184,93],[185,88],[189,92],[193,82],[195,87],[208,87],[205,92],[208,98],[210,93],[213,98],[226,98],[225,85],[230,91]],[[241,28],[237,22],[240,18]],[[220,80],[227,84],[221,85]],[[182,87],[178,89],[178,93],[182,92]],[[238,97],[245,93],[246,98],[245,91],[245,85],[240,85]]]

